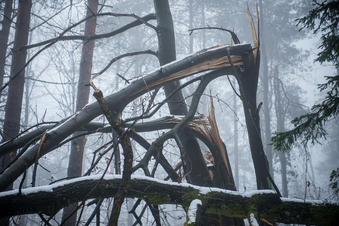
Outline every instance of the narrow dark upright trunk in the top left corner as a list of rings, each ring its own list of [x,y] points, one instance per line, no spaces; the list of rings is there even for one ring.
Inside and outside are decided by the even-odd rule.
[[[13,11],[13,0],[6,0],[5,8],[3,10],[2,28],[0,32],[0,88],[3,85],[3,76],[5,75],[6,52],[9,29],[12,23],[12,21],[10,20],[12,11]]]

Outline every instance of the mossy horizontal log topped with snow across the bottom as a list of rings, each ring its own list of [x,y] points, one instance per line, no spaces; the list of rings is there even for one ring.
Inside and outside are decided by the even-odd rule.
[[[52,185],[0,192],[0,217],[43,213],[55,215],[69,203],[91,198],[115,197],[121,175],[76,178]],[[97,187],[94,188],[94,186]],[[206,212],[230,217],[260,219],[285,224],[335,225],[339,216],[338,203],[320,200],[280,198],[272,190],[237,191],[165,182],[145,176],[133,176],[127,197],[147,197],[153,204],[177,204],[189,207],[199,199]]]

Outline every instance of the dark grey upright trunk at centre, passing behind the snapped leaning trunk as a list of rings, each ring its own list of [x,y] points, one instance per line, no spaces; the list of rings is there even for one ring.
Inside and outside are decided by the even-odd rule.
[[[158,22],[159,62],[160,65],[163,66],[176,60],[173,21],[168,0],[153,0],[153,2]],[[165,95],[170,95],[170,93],[179,86],[179,81],[167,83],[164,86]],[[181,91],[176,92],[170,98],[168,106],[171,114],[185,115],[188,113]],[[197,139],[186,133],[180,135],[180,138],[182,138],[181,142],[186,151],[181,154],[185,156],[184,159],[189,159],[183,163],[185,174],[188,173],[186,179],[194,185],[212,186],[212,181]]]

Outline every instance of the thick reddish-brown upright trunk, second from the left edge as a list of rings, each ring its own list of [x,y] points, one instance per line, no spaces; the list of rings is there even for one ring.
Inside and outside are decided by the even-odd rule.
[[[7,3],[11,3],[11,2],[10,1],[6,2],[6,6],[7,6]],[[27,50],[26,49],[18,50],[18,47],[22,45],[27,45],[28,34],[30,30],[31,8],[32,8],[32,0],[21,0],[18,3],[17,21],[15,24],[14,45],[13,45],[13,53],[12,53],[12,63],[11,63],[11,70],[10,70],[10,79],[11,78],[14,78],[14,79],[9,83],[9,86],[8,86],[8,96],[7,96],[6,107],[5,107],[5,118],[4,118],[4,123],[3,123],[2,142],[8,141],[12,139],[13,137],[17,136],[20,131],[21,107],[22,107],[22,98],[24,94],[24,84],[25,84],[24,65],[26,63]],[[4,18],[4,21],[5,20],[6,19]],[[8,23],[9,24],[6,26],[8,26],[8,30],[9,30],[10,22]],[[7,46],[8,34],[6,38],[7,40],[2,40],[3,37],[2,37],[2,31],[1,31],[0,38],[1,38],[1,41],[5,41],[5,45]],[[2,47],[3,46],[1,46],[1,48]],[[3,51],[5,54],[6,50],[3,50]],[[1,69],[1,73],[2,71],[3,70]],[[1,82],[2,81],[3,80],[1,80]],[[0,157],[0,169],[5,167],[10,162],[11,157],[14,154],[15,152],[11,152],[9,154],[5,154]],[[8,186],[7,189],[12,189],[12,185]],[[0,219],[0,225],[8,225],[8,223],[9,223],[8,218]]]

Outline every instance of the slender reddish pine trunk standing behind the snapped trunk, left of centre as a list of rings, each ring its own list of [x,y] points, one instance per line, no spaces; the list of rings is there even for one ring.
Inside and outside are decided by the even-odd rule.
[[[89,17],[93,12],[98,11],[99,0],[88,0],[88,9],[86,12],[86,17]],[[97,26],[97,18],[92,17],[85,22],[85,36],[92,36],[95,34]],[[86,104],[88,104],[90,86],[85,86],[89,84],[92,73],[92,62],[93,62],[93,50],[94,50],[94,40],[87,41],[84,40],[82,51],[81,51],[81,60],[80,60],[80,72],[79,72],[79,82],[76,98],[76,111],[80,111]],[[81,132],[80,132],[81,133]],[[74,133],[74,136],[78,135],[79,132]],[[80,177],[82,173],[82,159],[84,155],[84,147],[86,143],[85,137],[79,137],[72,141],[71,151],[69,155],[69,163],[67,170],[67,177]],[[63,221],[65,225],[75,226],[76,225],[76,209],[77,203],[73,203],[68,207],[64,208],[63,212]]]

